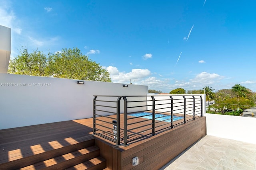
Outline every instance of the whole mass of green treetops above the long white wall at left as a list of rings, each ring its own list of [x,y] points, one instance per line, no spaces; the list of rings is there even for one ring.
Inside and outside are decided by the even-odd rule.
[[[28,53],[28,49],[23,48],[18,57],[10,60],[8,72],[111,82],[108,71],[83,55],[78,48],[62,49],[57,53],[49,52],[48,57],[41,51]]]

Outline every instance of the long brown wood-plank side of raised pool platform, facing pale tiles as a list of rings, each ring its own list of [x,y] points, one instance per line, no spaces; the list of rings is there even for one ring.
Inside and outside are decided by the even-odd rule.
[[[122,169],[157,170],[161,168],[170,160],[172,160],[175,156],[187,149],[190,145],[206,135],[205,128],[201,128],[201,126],[205,127],[205,117],[202,117],[202,119],[198,119],[197,121],[191,121],[189,123],[186,123],[183,126],[180,126],[180,128],[172,129],[169,133],[166,133],[164,135],[159,135],[159,138],[161,140],[152,139],[144,143],[144,145],[142,144],[145,149],[142,149],[135,153],[132,152],[132,154],[130,155],[126,154],[125,158],[123,155]],[[158,143],[155,143],[156,141],[158,141]],[[157,145],[160,146],[156,147]],[[142,146],[140,146],[139,148],[141,148]],[[131,150],[136,150],[136,148],[137,147],[133,147]],[[130,149],[124,151],[123,153],[129,151]],[[139,157],[138,166],[132,166],[133,156]]]

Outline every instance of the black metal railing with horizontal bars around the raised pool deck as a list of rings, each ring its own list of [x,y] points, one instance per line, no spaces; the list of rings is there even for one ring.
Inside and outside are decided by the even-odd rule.
[[[94,96],[93,134],[126,146],[202,117],[202,104],[202,95]]]

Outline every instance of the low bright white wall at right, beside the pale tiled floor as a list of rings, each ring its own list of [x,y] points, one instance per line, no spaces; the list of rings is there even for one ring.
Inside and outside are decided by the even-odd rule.
[[[206,113],[207,135],[256,144],[256,118]]]

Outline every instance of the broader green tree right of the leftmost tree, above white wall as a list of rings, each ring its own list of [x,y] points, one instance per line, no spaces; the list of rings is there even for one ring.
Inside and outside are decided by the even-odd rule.
[[[50,68],[54,77],[111,82],[109,73],[78,48],[50,54]]]

